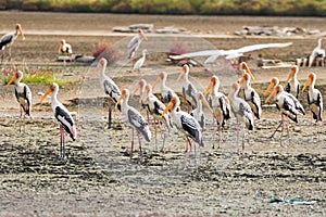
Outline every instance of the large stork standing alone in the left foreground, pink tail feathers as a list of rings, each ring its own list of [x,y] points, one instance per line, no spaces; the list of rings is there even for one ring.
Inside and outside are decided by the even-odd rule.
[[[40,102],[42,102],[46,99],[46,97],[51,93],[52,110],[54,112],[55,118],[60,123],[60,157],[64,158],[64,130],[71,136],[73,141],[75,141],[77,138],[77,130],[73,116],[71,115],[68,110],[61,102],[59,102],[57,98],[58,92],[58,84],[52,82],[40,99]]]

